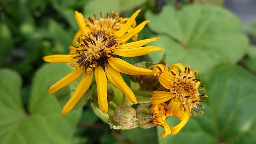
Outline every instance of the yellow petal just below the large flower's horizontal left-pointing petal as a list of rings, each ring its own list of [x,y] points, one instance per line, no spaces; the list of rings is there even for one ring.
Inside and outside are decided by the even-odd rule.
[[[64,78],[62,78],[61,80],[56,82],[54,85],[52,85],[48,90],[48,93],[52,94],[57,90],[64,88],[68,84],[74,82],[74,80],[76,80],[82,74],[82,72],[84,72],[84,70],[76,68],[75,70],[70,72],[70,74],[66,75]]]

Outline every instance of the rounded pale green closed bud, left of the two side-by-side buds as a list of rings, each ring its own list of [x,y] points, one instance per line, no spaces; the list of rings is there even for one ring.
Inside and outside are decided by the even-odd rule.
[[[114,111],[114,121],[124,127],[133,127],[136,122],[136,110],[130,106],[118,106]]]

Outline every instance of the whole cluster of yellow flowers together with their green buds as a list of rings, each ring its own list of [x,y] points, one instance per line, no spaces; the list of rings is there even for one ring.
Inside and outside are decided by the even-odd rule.
[[[44,56],[43,60],[52,63],[70,63],[74,70],[67,76],[53,84],[48,90],[49,94],[64,88],[82,75],[74,94],[62,109],[62,115],[74,108],[76,103],[88,91],[93,77],[97,85],[98,108],[108,113],[108,81],[121,90],[131,104],[137,104],[136,96],[131,88],[124,82],[120,72],[129,74],[133,82],[140,83],[140,90],[148,91],[151,102],[142,103],[137,109],[130,106],[119,105],[114,114],[110,115],[114,124],[125,128],[150,128],[162,126],[163,138],[169,134],[177,134],[188,122],[191,111],[194,116],[203,112],[198,106],[204,108],[200,102],[200,93],[204,85],[200,85],[200,78],[196,78],[198,70],[191,71],[189,66],[180,63],[172,64],[171,70],[167,65],[155,64],[151,67],[135,66],[118,58],[118,56],[134,57],[158,51],[164,52],[155,46],[144,46],[158,38],[138,40],[138,33],[149,23],[145,20],[136,26],[135,18],[141,10],[137,10],[130,18],[122,18],[118,13],[112,12],[100,18],[84,16],[75,12],[76,22],[79,26],[70,46],[69,54]],[[126,43],[132,39],[134,42]],[[157,91],[158,90],[158,91]],[[96,90],[95,90],[96,91]],[[154,92],[153,92],[154,91]],[[152,97],[151,97],[152,96]],[[176,126],[169,126],[165,121],[169,116],[180,120]],[[109,120],[109,124],[111,120]],[[120,128],[110,124],[113,128]]]

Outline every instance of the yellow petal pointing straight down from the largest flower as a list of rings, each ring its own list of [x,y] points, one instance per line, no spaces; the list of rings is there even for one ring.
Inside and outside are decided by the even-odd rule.
[[[101,66],[96,66],[95,68],[95,80],[97,84],[97,93],[98,93],[98,104],[100,110],[106,114],[108,112],[108,97],[107,97],[107,78],[104,70]]]

